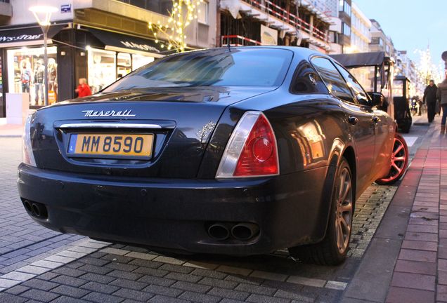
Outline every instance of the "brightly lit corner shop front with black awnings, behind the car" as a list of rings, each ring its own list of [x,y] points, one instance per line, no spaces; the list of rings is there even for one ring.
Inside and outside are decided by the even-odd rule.
[[[53,40],[52,40],[53,39]],[[84,26],[52,25],[48,32],[48,79],[44,79],[44,47],[40,27],[0,29],[0,116],[5,93],[29,93],[30,108],[77,97],[79,78],[92,93],[163,55],[151,39]]]

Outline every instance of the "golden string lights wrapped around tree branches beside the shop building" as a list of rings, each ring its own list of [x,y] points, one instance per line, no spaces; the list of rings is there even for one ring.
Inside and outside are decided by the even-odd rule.
[[[148,28],[153,32],[156,40],[155,43],[160,48],[168,50],[176,50],[181,53],[185,51],[186,44],[186,27],[191,21],[197,19],[200,13],[200,4],[204,0],[172,0],[172,9],[169,12],[167,24],[162,24],[160,20],[156,23],[149,22]],[[166,37],[167,41],[160,40],[159,36]]]

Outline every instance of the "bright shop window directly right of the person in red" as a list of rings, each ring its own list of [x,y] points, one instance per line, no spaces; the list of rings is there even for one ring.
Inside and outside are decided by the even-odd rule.
[[[92,93],[117,80],[116,57],[114,51],[89,49],[89,85]]]

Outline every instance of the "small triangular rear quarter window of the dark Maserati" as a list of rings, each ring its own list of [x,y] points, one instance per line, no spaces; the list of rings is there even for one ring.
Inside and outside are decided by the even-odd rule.
[[[302,60],[294,72],[290,93],[328,93],[325,83],[315,72],[315,69],[307,62]]]

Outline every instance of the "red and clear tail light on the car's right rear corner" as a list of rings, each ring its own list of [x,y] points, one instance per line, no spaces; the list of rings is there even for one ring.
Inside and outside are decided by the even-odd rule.
[[[261,112],[245,112],[226,145],[216,178],[278,175],[275,133]]]

